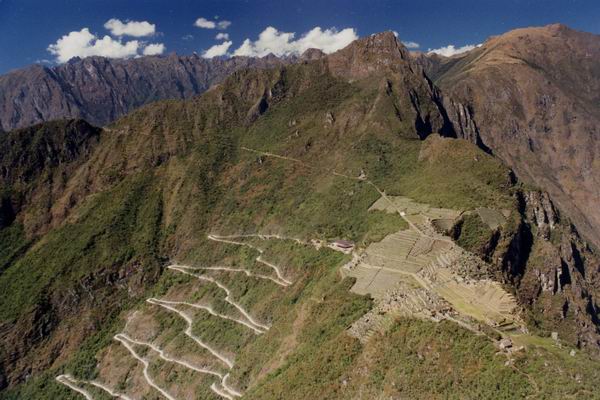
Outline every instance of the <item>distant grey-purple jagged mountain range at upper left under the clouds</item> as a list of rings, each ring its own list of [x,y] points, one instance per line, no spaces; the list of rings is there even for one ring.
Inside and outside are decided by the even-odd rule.
[[[173,54],[131,60],[75,58],[54,68],[34,65],[0,76],[0,130],[64,118],[84,118],[100,126],[151,101],[200,94],[233,71],[290,61]]]

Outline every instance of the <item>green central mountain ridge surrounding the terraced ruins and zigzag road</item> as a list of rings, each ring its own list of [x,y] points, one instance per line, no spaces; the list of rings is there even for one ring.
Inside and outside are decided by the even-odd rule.
[[[153,103],[101,130],[69,121],[2,135],[0,148],[14,153],[0,153],[3,171],[11,167],[0,180],[0,237],[8,238],[0,245],[0,383],[8,387],[0,398],[78,398],[55,380],[60,374],[94,398],[106,391],[84,381],[165,397],[144,381],[135,352],[178,399],[219,391],[257,399],[593,397],[599,286],[586,271],[598,256],[544,193],[452,138],[448,114],[422,68],[384,33],[319,60],[235,72],[200,97]],[[65,138],[73,145],[54,147]],[[365,249],[409,228],[399,213],[369,211],[380,192],[461,212],[443,233],[514,294],[530,333],[508,337],[524,349],[499,352],[496,328],[476,321],[477,333],[399,317],[366,344],[348,334],[378,300],[341,278],[350,256],[311,240]],[[502,211],[505,222],[490,228],[482,208]],[[211,234],[284,239],[236,245]],[[198,282],[166,268],[173,263],[250,272],[206,270]],[[551,276],[556,263],[561,275]],[[269,264],[291,284],[273,282]],[[239,314],[246,325],[192,310],[190,327],[235,359],[233,368],[149,298]],[[133,335],[128,329],[173,357],[223,369],[229,383],[142,345],[128,352],[117,335]],[[553,331],[558,341],[548,338]]]

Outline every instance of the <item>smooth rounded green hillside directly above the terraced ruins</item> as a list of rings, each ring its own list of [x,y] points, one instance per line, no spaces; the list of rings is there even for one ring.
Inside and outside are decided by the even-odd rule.
[[[513,206],[508,169],[467,141],[431,135],[424,142],[401,140],[393,146],[367,140],[364,151],[370,156],[361,158],[388,194],[458,210]]]

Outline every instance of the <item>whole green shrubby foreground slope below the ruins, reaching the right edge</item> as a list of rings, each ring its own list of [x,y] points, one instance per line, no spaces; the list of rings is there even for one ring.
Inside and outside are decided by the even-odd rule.
[[[359,392],[366,398],[598,398],[595,361],[546,342],[529,343],[513,366],[487,338],[451,322],[400,319],[362,347],[330,332],[318,314],[311,317],[318,322],[303,331],[310,337],[247,398],[345,399]]]

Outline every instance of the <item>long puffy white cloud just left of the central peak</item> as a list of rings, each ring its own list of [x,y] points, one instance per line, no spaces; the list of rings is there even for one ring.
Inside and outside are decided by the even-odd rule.
[[[293,32],[281,32],[269,26],[260,33],[258,40],[244,40],[233,55],[264,57],[273,53],[276,56],[285,56],[301,54],[310,48],[322,50],[324,53],[333,53],[358,39],[356,31],[352,28],[338,31],[335,28],[322,30],[320,27],[315,27],[298,40],[294,40],[294,37]]]

